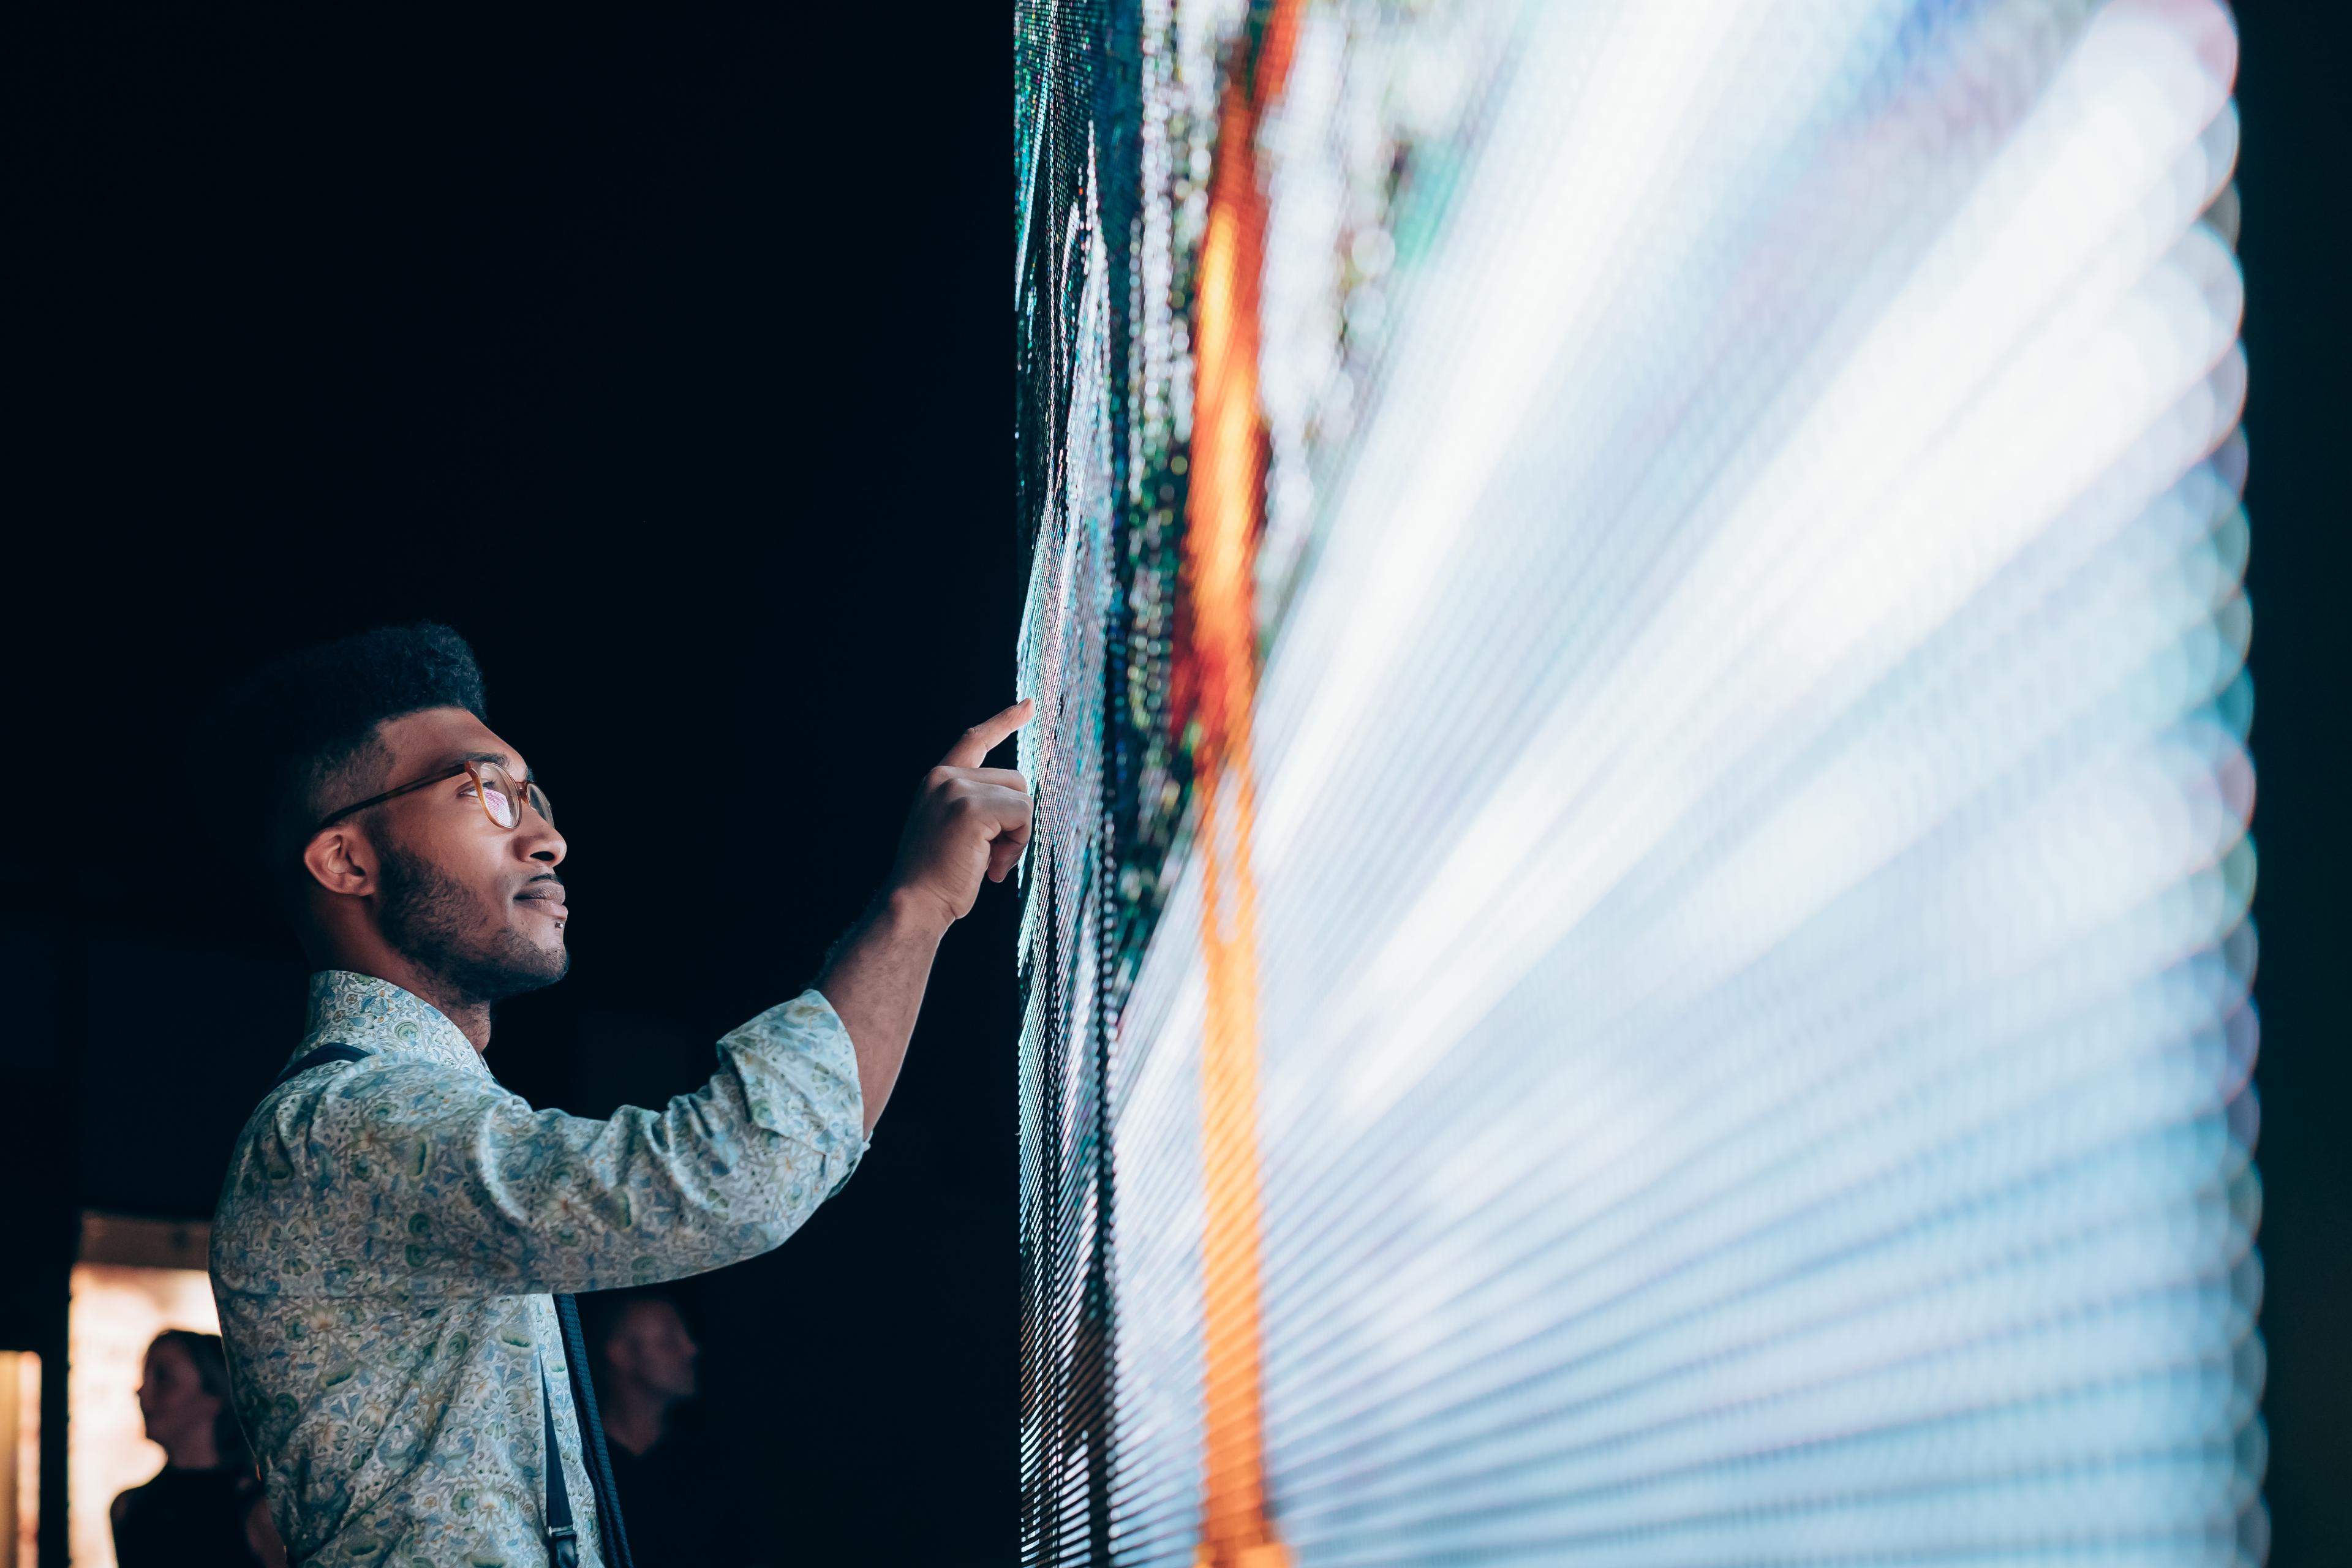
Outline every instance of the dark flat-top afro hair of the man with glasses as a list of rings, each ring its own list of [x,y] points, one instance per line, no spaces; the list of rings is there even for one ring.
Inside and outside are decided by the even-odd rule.
[[[372,762],[388,719],[426,708],[466,708],[489,722],[473,649],[430,621],[339,637],[254,670],[198,736],[230,851],[285,886],[294,851],[329,809],[327,790]]]

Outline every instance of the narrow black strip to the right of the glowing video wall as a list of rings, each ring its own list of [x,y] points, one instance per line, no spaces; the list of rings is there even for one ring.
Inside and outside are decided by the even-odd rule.
[[[2345,306],[2352,16],[2239,9],[2263,1258],[2274,1563],[2352,1563],[2352,1039],[2345,1030]]]

